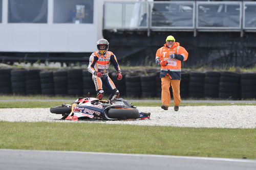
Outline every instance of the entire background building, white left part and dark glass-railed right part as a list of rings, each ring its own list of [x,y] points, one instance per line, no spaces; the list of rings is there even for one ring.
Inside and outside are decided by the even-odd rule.
[[[152,65],[166,35],[184,66],[256,63],[255,1],[0,0],[0,60],[88,62],[99,38],[121,64]]]

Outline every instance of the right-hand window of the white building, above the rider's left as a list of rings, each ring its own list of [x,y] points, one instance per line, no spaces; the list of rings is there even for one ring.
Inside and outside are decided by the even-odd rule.
[[[54,23],[93,23],[93,0],[54,0]]]

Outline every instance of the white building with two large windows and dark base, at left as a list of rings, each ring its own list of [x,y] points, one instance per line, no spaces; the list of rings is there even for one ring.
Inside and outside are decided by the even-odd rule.
[[[0,60],[87,59],[102,38],[103,3],[0,0]]]

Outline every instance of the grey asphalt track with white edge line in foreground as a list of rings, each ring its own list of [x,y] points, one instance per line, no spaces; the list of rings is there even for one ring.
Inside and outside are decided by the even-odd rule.
[[[0,150],[0,169],[255,170],[256,160],[72,151]]]

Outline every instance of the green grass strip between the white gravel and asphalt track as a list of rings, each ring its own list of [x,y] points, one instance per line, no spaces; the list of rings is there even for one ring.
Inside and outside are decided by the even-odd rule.
[[[256,159],[256,129],[0,122],[0,149]]]

